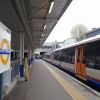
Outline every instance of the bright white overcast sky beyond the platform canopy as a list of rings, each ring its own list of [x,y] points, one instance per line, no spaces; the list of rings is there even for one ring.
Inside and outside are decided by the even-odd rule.
[[[71,38],[71,29],[77,24],[83,24],[88,30],[100,27],[100,0],[73,0],[46,42]]]

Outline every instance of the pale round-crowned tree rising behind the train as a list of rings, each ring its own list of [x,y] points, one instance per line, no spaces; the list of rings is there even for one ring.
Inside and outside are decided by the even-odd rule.
[[[75,38],[76,41],[81,41],[83,39],[86,38],[85,33],[87,32],[87,28],[82,25],[82,24],[78,24],[76,26],[74,26],[71,30],[71,36],[72,38]]]

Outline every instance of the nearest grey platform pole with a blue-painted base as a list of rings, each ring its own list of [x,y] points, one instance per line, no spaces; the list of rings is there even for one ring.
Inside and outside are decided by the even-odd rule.
[[[20,34],[20,77],[24,77],[24,33]]]

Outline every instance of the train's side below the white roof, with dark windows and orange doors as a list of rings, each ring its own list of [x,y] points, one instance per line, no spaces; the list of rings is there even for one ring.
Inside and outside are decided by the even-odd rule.
[[[78,64],[80,64],[81,75],[78,75],[77,73],[77,65],[75,61],[76,48],[80,49],[76,60]],[[49,62],[74,73],[82,79],[84,78],[87,82],[100,88],[100,41],[71,48],[63,48],[53,52],[52,55],[53,57],[48,60]]]

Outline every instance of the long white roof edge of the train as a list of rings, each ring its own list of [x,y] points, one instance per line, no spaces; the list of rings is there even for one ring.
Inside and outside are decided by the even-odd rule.
[[[96,36],[94,36],[94,37],[90,37],[90,38],[88,38],[88,39],[82,40],[82,41],[80,41],[80,42],[76,42],[76,43],[73,43],[73,44],[64,46],[64,47],[62,47],[62,48],[58,48],[58,49],[53,50],[53,51],[50,51],[50,52],[48,52],[48,53],[55,52],[55,51],[59,51],[59,50],[62,50],[62,49],[71,48],[71,47],[80,46],[80,45],[87,44],[87,43],[92,43],[92,42],[95,42],[95,41],[98,41],[98,40],[100,40],[100,34],[99,34],[99,35],[96,35]]]

